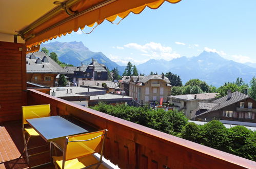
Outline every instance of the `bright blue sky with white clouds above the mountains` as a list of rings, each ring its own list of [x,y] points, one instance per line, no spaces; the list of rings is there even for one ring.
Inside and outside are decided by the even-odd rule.
[[[237,62],[256,63],[255,7],[255,0],[165,2],[156,10],[131,13],[119,25],[106,20],[90,34],[72,32],[51,41],[82,41],[91,51],[101,51],[120,65],[192,57],[203,50]]]

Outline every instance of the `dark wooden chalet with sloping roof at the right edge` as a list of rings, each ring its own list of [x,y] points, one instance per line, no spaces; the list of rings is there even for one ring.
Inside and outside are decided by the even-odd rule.
[[[199,102],[195,119],[210,121],[212,119],[256,123],[256,101],[250,96],[228,90],[228,94],[211,102]]]

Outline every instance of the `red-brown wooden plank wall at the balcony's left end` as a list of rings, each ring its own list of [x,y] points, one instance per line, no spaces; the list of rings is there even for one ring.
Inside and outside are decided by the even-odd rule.
[[[0,122],[22,118],[27,105],[26,47],[0,41]]]

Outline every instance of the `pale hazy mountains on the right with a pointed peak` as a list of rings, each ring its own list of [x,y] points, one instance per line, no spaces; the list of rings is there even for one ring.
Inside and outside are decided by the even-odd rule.
[[[183,56],[170,61],[151,59],[138,65],[137,69],[145,74],[151,71],[172,72],[180,75],[183,84],[189,79],[198,78],[216,87],[222,86],[224,82],[233,82],[237,77],[242,77],[248,83],[256,75],[256,68],[224,59],[218,53],[206,51],[199,56],[189,58]]]

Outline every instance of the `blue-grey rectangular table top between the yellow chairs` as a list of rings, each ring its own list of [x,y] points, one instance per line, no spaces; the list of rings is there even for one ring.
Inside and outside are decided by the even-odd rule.
[[[89,132],[88,130],[91,130],[91,126],[85,129],[74,124],[74,120],[67,120],[61,116],[33,118],[26,121],[47,142],[65,138],[66,136],[87,133]]]

